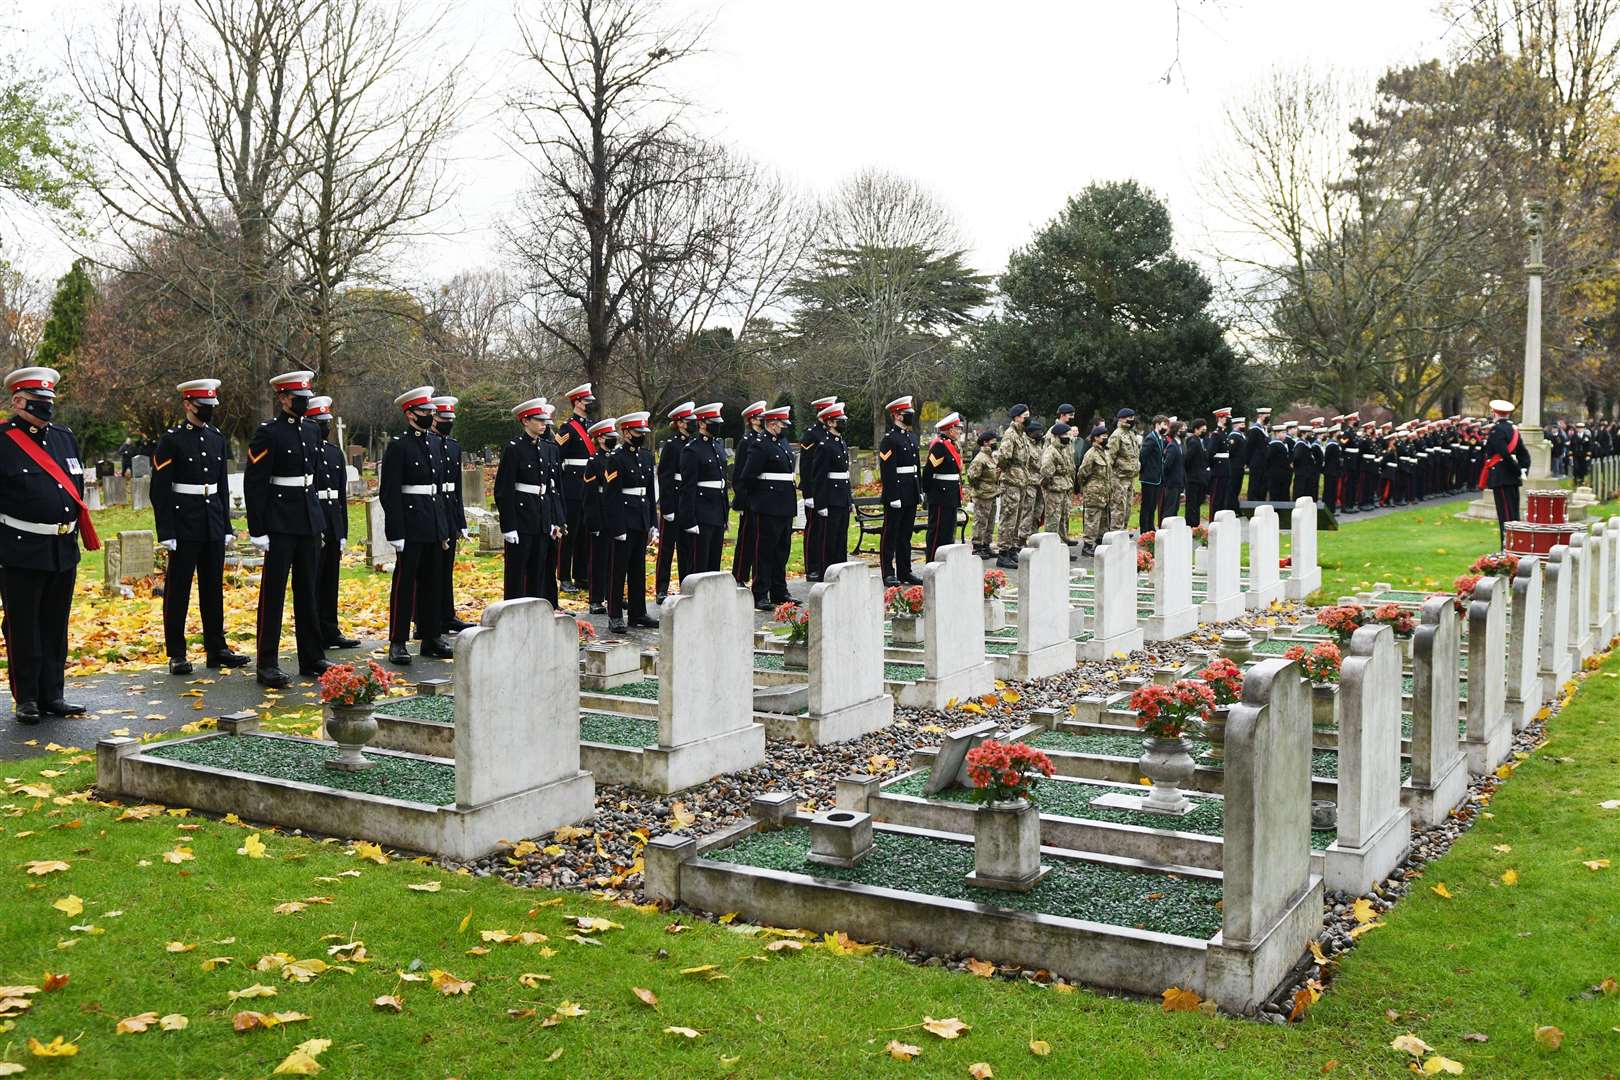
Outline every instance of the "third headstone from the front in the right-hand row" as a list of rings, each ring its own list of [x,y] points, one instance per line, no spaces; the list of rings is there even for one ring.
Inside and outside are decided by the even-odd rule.
[[[1450,596],[1430,596],[1413,633],[1411,810],[1432,827],[1468,795],[1468,767],[1456,738],[1458,625]]]

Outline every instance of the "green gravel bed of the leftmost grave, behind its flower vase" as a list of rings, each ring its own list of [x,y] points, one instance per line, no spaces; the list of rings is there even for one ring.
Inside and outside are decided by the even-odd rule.
[[[212,738],[152,746],[144,753],[167,761],[233,769],[275,780],[300,780],[345,792],[387,795],[429,806],[449,806],[455,801],[454,766],[392,755],[366,755],[366,759],[377,763],[376,769],[339,772],[322,766],[327,758],[337,756],[337,746],[301,738],[214,735]]]

